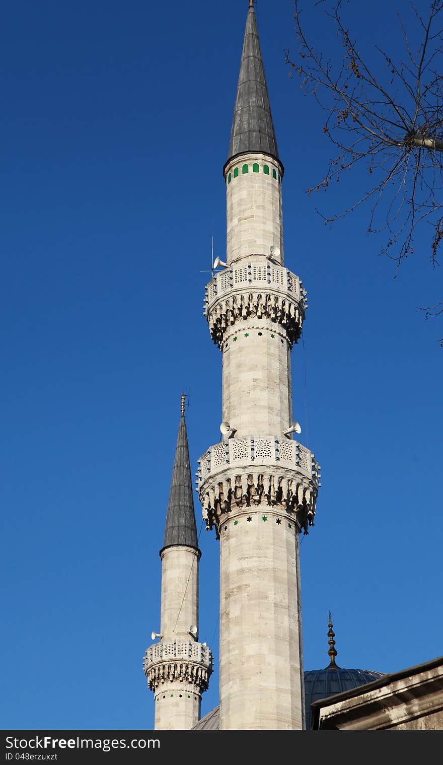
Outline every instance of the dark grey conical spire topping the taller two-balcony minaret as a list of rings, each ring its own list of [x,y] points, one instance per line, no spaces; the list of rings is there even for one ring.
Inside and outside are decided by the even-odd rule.
[[[279,159],[252,2],[246,18],[228,161],[246,151],[262,151]]]

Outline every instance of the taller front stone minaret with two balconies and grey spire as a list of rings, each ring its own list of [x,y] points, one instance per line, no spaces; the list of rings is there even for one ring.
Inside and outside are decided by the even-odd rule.
[[[200,458],[198,486],[220,539],[220,729],[301,729],[298,535],[313,523],[319,476],[293,440],[306,292],[283,265],[283,165],[251,0],[223,176],[227,265],[204,301],[223,358],[223,438]]]

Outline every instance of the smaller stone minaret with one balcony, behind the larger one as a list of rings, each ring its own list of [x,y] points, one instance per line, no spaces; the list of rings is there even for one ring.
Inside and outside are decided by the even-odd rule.
[[[161,558],[159,643],[145,653],[148,687],[155,695],[155,729],[187,731],[200,720],[201,694],[212,654],[198,639],[198,549],[191,467],[184,421],[185,396],[172,470]],[[152,639],[155,633],[152,633]]]

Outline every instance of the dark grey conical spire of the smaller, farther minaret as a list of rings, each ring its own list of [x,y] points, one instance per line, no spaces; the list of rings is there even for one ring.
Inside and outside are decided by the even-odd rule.
[[[181,396],[181,420],[172,470],[163,547],[187,545],[198,549],[197,526],[192,493],[191,464],[184,422],[184,394]]]

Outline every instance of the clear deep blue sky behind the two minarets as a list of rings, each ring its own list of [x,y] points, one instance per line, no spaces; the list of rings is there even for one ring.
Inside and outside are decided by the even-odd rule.
[[[306,5],[327,48],[331,31]],[[396,5],[350,8],[370,55],[375,43],[399,50]],[[224,255],[246,10],[3,9],[4,728],[152,727],[142,657],[159,627],[182,389],[193,468],[220,439],[221,356],[201,271],[211,236]],[[285,164],[286,265],[309,298],[305,353],[292,353],[295,417],[322,467],[301,543],[305,669],[327,664],[331,608],[340,666],[393,672],[441,653],[443,332],[417,311],[441,299],[441,273],[418,241],[394,280],[366,237],[367,210],[321,223],[315,206],[334,212],[347,191],[304,191],[330,147],[318,107],[288,79],[292,2],[260,0],[257,18]],[[197,494],[196,514],[200,529]],[[200,545],[200,639],[218,657],[213,532]]]

